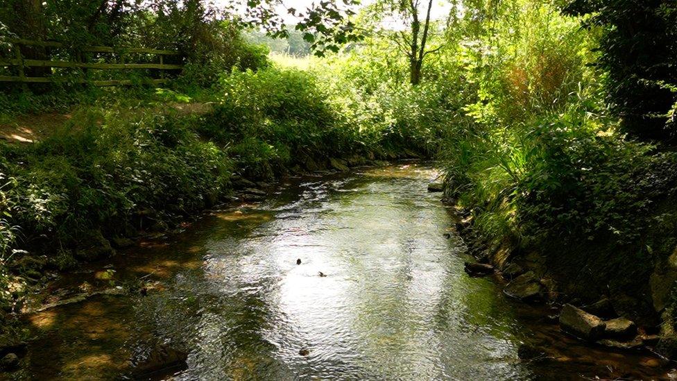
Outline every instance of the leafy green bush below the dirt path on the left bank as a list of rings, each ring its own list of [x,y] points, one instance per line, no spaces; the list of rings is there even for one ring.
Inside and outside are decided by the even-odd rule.
[[[35,146],[3,146],[6,171],[16,179],[6,189],[15,200],[12,223],[28,239],[70,244],[96,228],[123,234],[142,211],[163,219],[214,203],[227,190],[230,160],[200,142],[192,122],[89,111]]]

